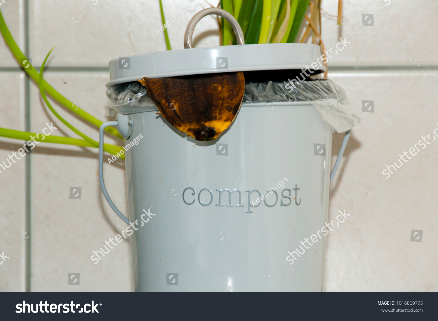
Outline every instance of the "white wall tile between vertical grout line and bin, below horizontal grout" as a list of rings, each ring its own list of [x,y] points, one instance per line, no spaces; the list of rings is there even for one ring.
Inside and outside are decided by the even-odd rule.
[[[45,79],[67,98],[102,121],[106,116],[107,73],[46,73]],[[53,115],[42,104],[32,84],[32,127],[41,131]],[[57,103],[53,108],[77,129],[99,140],[97,127],[89,126]],[[58,120],[53,135],[79,138]],[[108,135],[109,136],[109,135]],[[108,137],[106,143],[122,144]],[[90,257],[124,223],[103,198],[99,185],[98,150],[45,144],[33,154],[33,291],[131,291],[131,253],[123,243],[98,265]],[[127,213],[123,161],[105,164],[105,182],[116,206]],[[81,187],[81,199],[70,199],[70,187]],[[102,266],[104,266],[104,268]],[[47,271],[50,271],[49,273]],[[68,273],[81,273],[80,286],[68,286]]]

